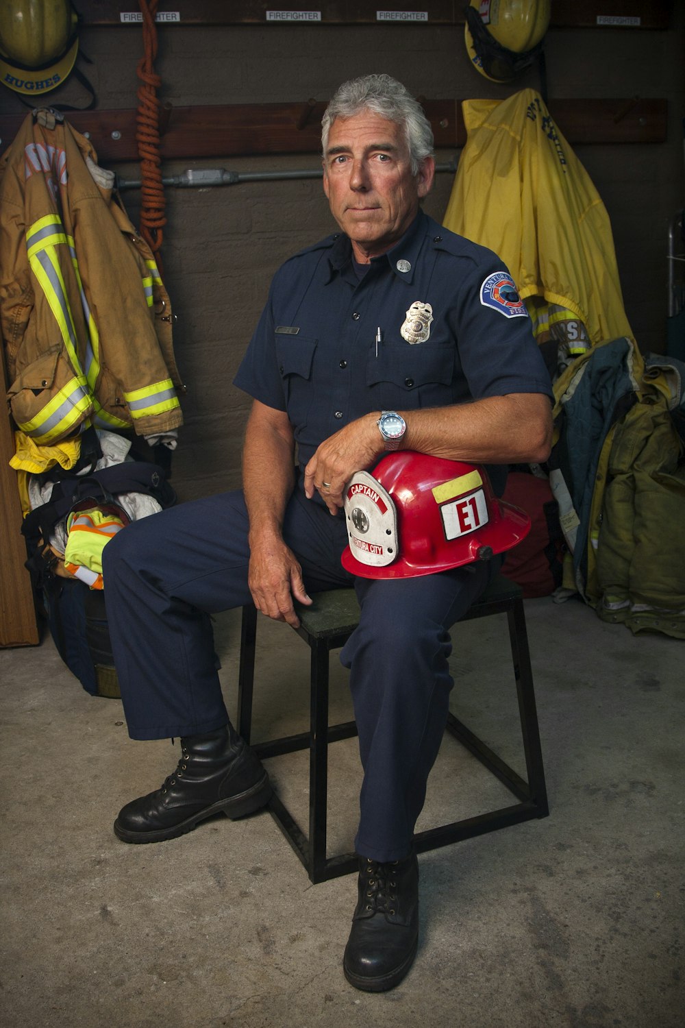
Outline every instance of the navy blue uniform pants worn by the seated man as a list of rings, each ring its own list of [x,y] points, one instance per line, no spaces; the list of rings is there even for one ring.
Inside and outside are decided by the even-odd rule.
[[[136,521],[105,547],[107,615],[131,738],[196,735],[228,723],[211,615],[251,602],[248,528],[242,493],[234,491]],[[361,617],[340,659],[350,670],[364,768],[355,846],[376,860],[401,859],[447,722],[449,628],[485,588],[489,565],[354,579],[340,563],[344,518],[300,489],[283,537],[310,594],[354,583]]]

